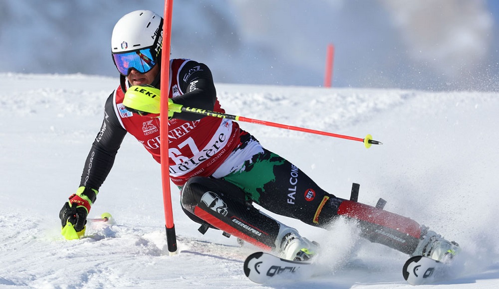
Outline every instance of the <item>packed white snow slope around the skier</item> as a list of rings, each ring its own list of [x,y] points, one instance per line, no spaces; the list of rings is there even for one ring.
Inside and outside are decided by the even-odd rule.
[[[330,231],[276,216],[318,241],[318,276],[259,286],[243,273],[240,247],[220,231],[201,235],[172,185],[179,254],[165,247],[160,165],[125,138],[90,217],[86,238],[60,235],[59,209],[76,191],[103,106],[118,79],[1,74],[0,288],[412,288],[402,253],[359,239],[339,220]],[[463,248],[459,274],[420,288],[499,286],[499,95],[477,92],[324,89],[217,84],[230,114],[364,138],[362,143],[241,123],[268,149],[327,191],[430,226]]]

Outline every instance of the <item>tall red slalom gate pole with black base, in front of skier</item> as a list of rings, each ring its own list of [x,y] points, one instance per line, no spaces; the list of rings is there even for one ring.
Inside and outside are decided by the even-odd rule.
[[[165,209],[166,242],[170,255],[177,254],[177,236],[173,222],[172,195],[170,190],[170,164],[168,156],[168,96],[170,95],[170,44],[173,0],[165,0],[163,17],[163,44],[161,54],[161,105],[160,143],[161,180],[163,184],[163,204]]]

